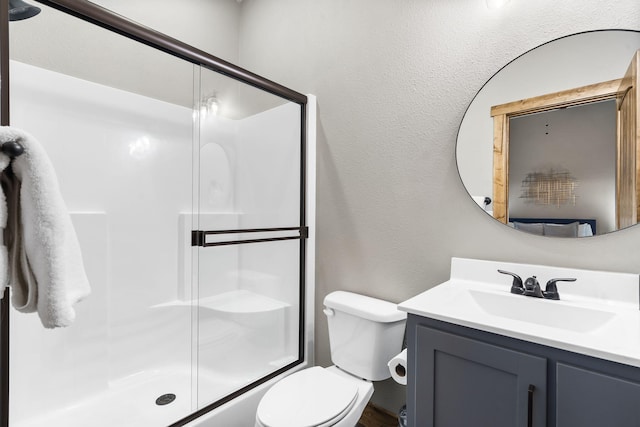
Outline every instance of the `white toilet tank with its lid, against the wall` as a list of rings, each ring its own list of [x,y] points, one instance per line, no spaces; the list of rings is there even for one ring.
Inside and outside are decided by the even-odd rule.
[[[402,350],[407,314],[397,304],[345,291],[330,293],[324,305],[333,363],[370,381],[389,378],[387,362]]]

